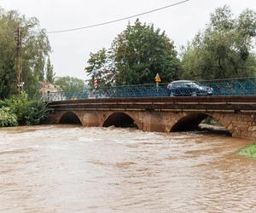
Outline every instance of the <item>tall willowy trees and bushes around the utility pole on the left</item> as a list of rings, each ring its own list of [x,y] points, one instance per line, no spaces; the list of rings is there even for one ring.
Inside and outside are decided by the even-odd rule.
[[[17,95],[19,28],[21,80],[26,92]],[[38,30],[39,28],[36,18],[27,19],[16,11],[6,12],[0,8],[0,127],[40,124],[47,118],[48,109],[44,102],[32,100],[32,97],[38,95],[38,85],[40,81],[44,81],[44,72],[47,71],[47,78],[50,80],[54,75],[49,60],[49,40],[44,30]]]

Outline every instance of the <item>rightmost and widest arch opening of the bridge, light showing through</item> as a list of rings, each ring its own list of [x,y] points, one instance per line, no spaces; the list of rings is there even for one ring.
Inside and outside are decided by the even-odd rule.
[[[174,131],[204,131],[211,134],[232,135],[223,124],[205,113],[192,113],[181,118],[173,125],[171,132]]]

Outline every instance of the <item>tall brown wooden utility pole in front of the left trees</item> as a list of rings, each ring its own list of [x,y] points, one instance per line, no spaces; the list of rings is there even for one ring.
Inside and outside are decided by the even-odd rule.
[[[16,83],[17,83],[17,90],[18,94],[20,95],[20,88],[23,89],[23,82],[22,82],[22,66],[21,66],[21,27],[18,26],[17,29],[17,37],[16,37]]]

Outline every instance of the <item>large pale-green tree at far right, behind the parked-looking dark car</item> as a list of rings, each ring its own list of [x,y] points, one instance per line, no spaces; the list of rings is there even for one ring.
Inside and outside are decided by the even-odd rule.
[[[256,57],[252,52],[255,36],[255,12],[247,9],[234,18],[229,7],[216,9],[204,32],[199,32],[183,50],[183,78],[253,76],[256,73]]]

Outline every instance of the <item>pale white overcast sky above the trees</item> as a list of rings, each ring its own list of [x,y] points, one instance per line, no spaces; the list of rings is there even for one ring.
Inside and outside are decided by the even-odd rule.
[[[15,9],[27,17],[35,16],[47,31],[89,26],[108,20],[116,20],[158,9],[180,0],[0,0],[3,9]],[[256,11],[255,0],[190,0],[187,3],[140,16],[142,22],[152,23],[166,31],[177,50],[190,41],[195,33],[203,29],[214,9],[230,5],[235,15],[244,9]],[[136,18],[131,19],[133,22]],[[98,26],[75,32],[49,34],[53,49],[51,60],[56,76],[70,75],[86,78],[84,66],[90,52],[109,48],[129,20],[108,26]]]

